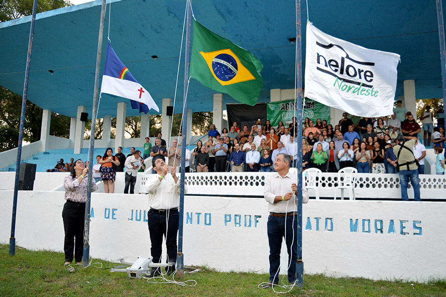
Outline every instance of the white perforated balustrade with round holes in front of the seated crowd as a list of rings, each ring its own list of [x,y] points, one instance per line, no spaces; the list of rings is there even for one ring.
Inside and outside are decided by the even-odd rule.
[[[265,177],[269,172],[222,172],[222,173],[186,173],[187,194],[220,195],[220,196],[262,196]],[[304,172],[305,174],[305,172]],[[146,193],[146,181],[152,174],[144,174],[141,178],[140,193]],[[337,173],[322,173],[319,181],[320,197],[335,195]],[[446,176],[420,175],[420,191],[422,199],[445,199]],[[413,190],[408,189],[409,198],[413,198]],[[339,194],[339,193],[338,193]],[[398,174],[357,173],[356,198],[401,198]],[[314,191],[310,190],[310,197]]]

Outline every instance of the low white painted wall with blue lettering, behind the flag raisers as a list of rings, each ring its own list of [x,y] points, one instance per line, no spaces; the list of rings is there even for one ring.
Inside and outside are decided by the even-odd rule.
[[[9,240],[12,195],[12,191],[0,192],[0,242],[3,243]],[[17,245],[61,251],[63,193],[20,191],[18,201]],[[92,256],[116,261],[150,254],[149,232],[144,222],[144,211],[148,208],[146,196],[93,193],[92,207]],[[445,202],[312,199],[303,208],[305,272],[422,282],[446,278],[445,212]],[[208,265],[221,271],[267,272],[267,219],[267,203],[263,198],[187,196],[185,264]],[[351,230],[350,219],[358,220],[357,232],[354,228]],[[391,221],[394,228],[390,228]],[[284,255],[281,263],[284,271]]]

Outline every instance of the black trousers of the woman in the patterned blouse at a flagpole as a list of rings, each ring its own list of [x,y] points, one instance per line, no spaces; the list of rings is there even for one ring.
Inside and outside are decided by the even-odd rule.
[[[66,200],[62,210],[63,229],[65,239],[63,250],[65,262],[82,261],[84,247],[85,202]]]

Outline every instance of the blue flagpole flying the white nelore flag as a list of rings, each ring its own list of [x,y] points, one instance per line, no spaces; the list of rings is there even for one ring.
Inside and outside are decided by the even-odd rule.
[[[296,104],[297,104],[297,286],[303,287],[303,261],[302,261],[302,28],[300,21],[300,0],[296,0]],[[295,107],[294,107],[295,108]]]

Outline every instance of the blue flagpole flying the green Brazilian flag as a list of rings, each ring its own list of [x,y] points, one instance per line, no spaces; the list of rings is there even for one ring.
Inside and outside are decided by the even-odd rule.
[[[191,3],[187,0],[187,24],[186,24],[186,54],[184,59],[184,95],[183,95],[183,131],[181,141],[181,186],[180,186],[180,205],[179,205],[179,224],[178,224],[178,253],[176,256],[177,276],[182,278],[184,273],[184,255],[183,255],[183,217],[184,217],[184,182],[186,168],[186,135],[187,135],[187,87],[189,83],[190,66],[190,22],[191,22]],[[192,119],[190,119],[192,120]]]

